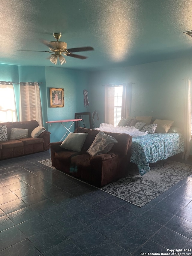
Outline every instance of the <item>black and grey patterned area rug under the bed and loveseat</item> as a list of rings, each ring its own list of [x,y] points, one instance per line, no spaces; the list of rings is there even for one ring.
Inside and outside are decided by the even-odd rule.
[[[52,167],[50,159],[39,162]],[[100,189],[142,207],[192,174],[192,165],[169,160],[164,165],[163,161],[150,164],[150,169],[140,176],[133,167],[131,176],[111,182]]]

